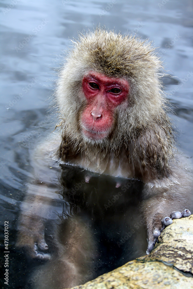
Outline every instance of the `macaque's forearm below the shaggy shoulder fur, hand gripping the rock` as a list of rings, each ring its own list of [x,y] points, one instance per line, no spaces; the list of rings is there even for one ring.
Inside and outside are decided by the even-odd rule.
[[[189,163],[189,164],[188,164]],[[180,155],[171,166],[168,177],[154,179],[144,188],[142,211],[148,233],[149,253],[155,246],[161,231],[172,219],[189,216],[191,203],[192,170],[190,160]]]

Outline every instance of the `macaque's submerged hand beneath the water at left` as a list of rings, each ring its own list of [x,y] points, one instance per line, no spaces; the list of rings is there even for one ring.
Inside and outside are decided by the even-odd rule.
[[[41,250],[48,249],[44,237],[44,222],[40,218],[23,215],[18,230],[17,247],[25,248],[27,254],[32,258],[50,259],[50,254],[38,251],[38,248]]]

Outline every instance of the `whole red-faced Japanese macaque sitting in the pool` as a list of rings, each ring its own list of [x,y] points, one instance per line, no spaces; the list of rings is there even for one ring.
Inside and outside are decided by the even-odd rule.
[[[69,288],[102,273],[90,273],[100,260],[91,225],[108,223],[111,234],[124,216],[128,232],[134,203],[147,253],[173,218],[190,215],[191,165],[174,152],[160,71],[154,48],[137,37],[98,28],[73,42],[55,94],[60,134],[36,149],[21,208],[17,245],[48,259],[35,288]],[[115,189],[102,192],[104,179]]]

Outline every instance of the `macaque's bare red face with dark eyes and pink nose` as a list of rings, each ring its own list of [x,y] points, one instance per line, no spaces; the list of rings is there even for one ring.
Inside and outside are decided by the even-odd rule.
[[[109,135],[115,123],[115,108],[127,105],[129,84],[125,79],[91,72],[82,80],[87,105],[80,119],[84,136],[100,140]]]

